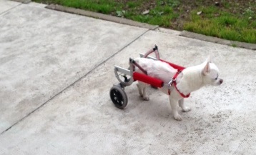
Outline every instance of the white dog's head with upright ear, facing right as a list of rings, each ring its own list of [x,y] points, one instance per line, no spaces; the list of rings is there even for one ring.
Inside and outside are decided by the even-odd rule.
[[[215,64],[212,63],[212,60],[209,58],[202,64],[202,80],[204,84],[210,84],[213,86],[218,86],[222,84],[223,79],[220,79],[220,71]]]

